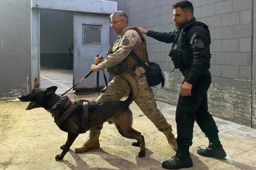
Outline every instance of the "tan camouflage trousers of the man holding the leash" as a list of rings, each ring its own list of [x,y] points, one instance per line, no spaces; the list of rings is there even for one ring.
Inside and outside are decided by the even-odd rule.
[[[167,123],[166,118],[164,118],[161,111],[157,109],[156,100],[154,98],[154,94],[152,89],[148,85],[147,78],[144,75],[138,78],[135,76],[138,83],[138,96],[134,99],[135,103],[139,106],[141,111],[156,125],[157,129],[163,133],[172,132],[172,126]],[[113,80],[109,82],[108,88],[106,91],[97,98],[96,101],[119,101],[125,95],[129,94],[130,87],[127,81],[125,81],[121,76],[115,75]],[[102,125],[99,127],[95,127],[90,130],[90,137],[100,135],[100,129],[102,129]]]

